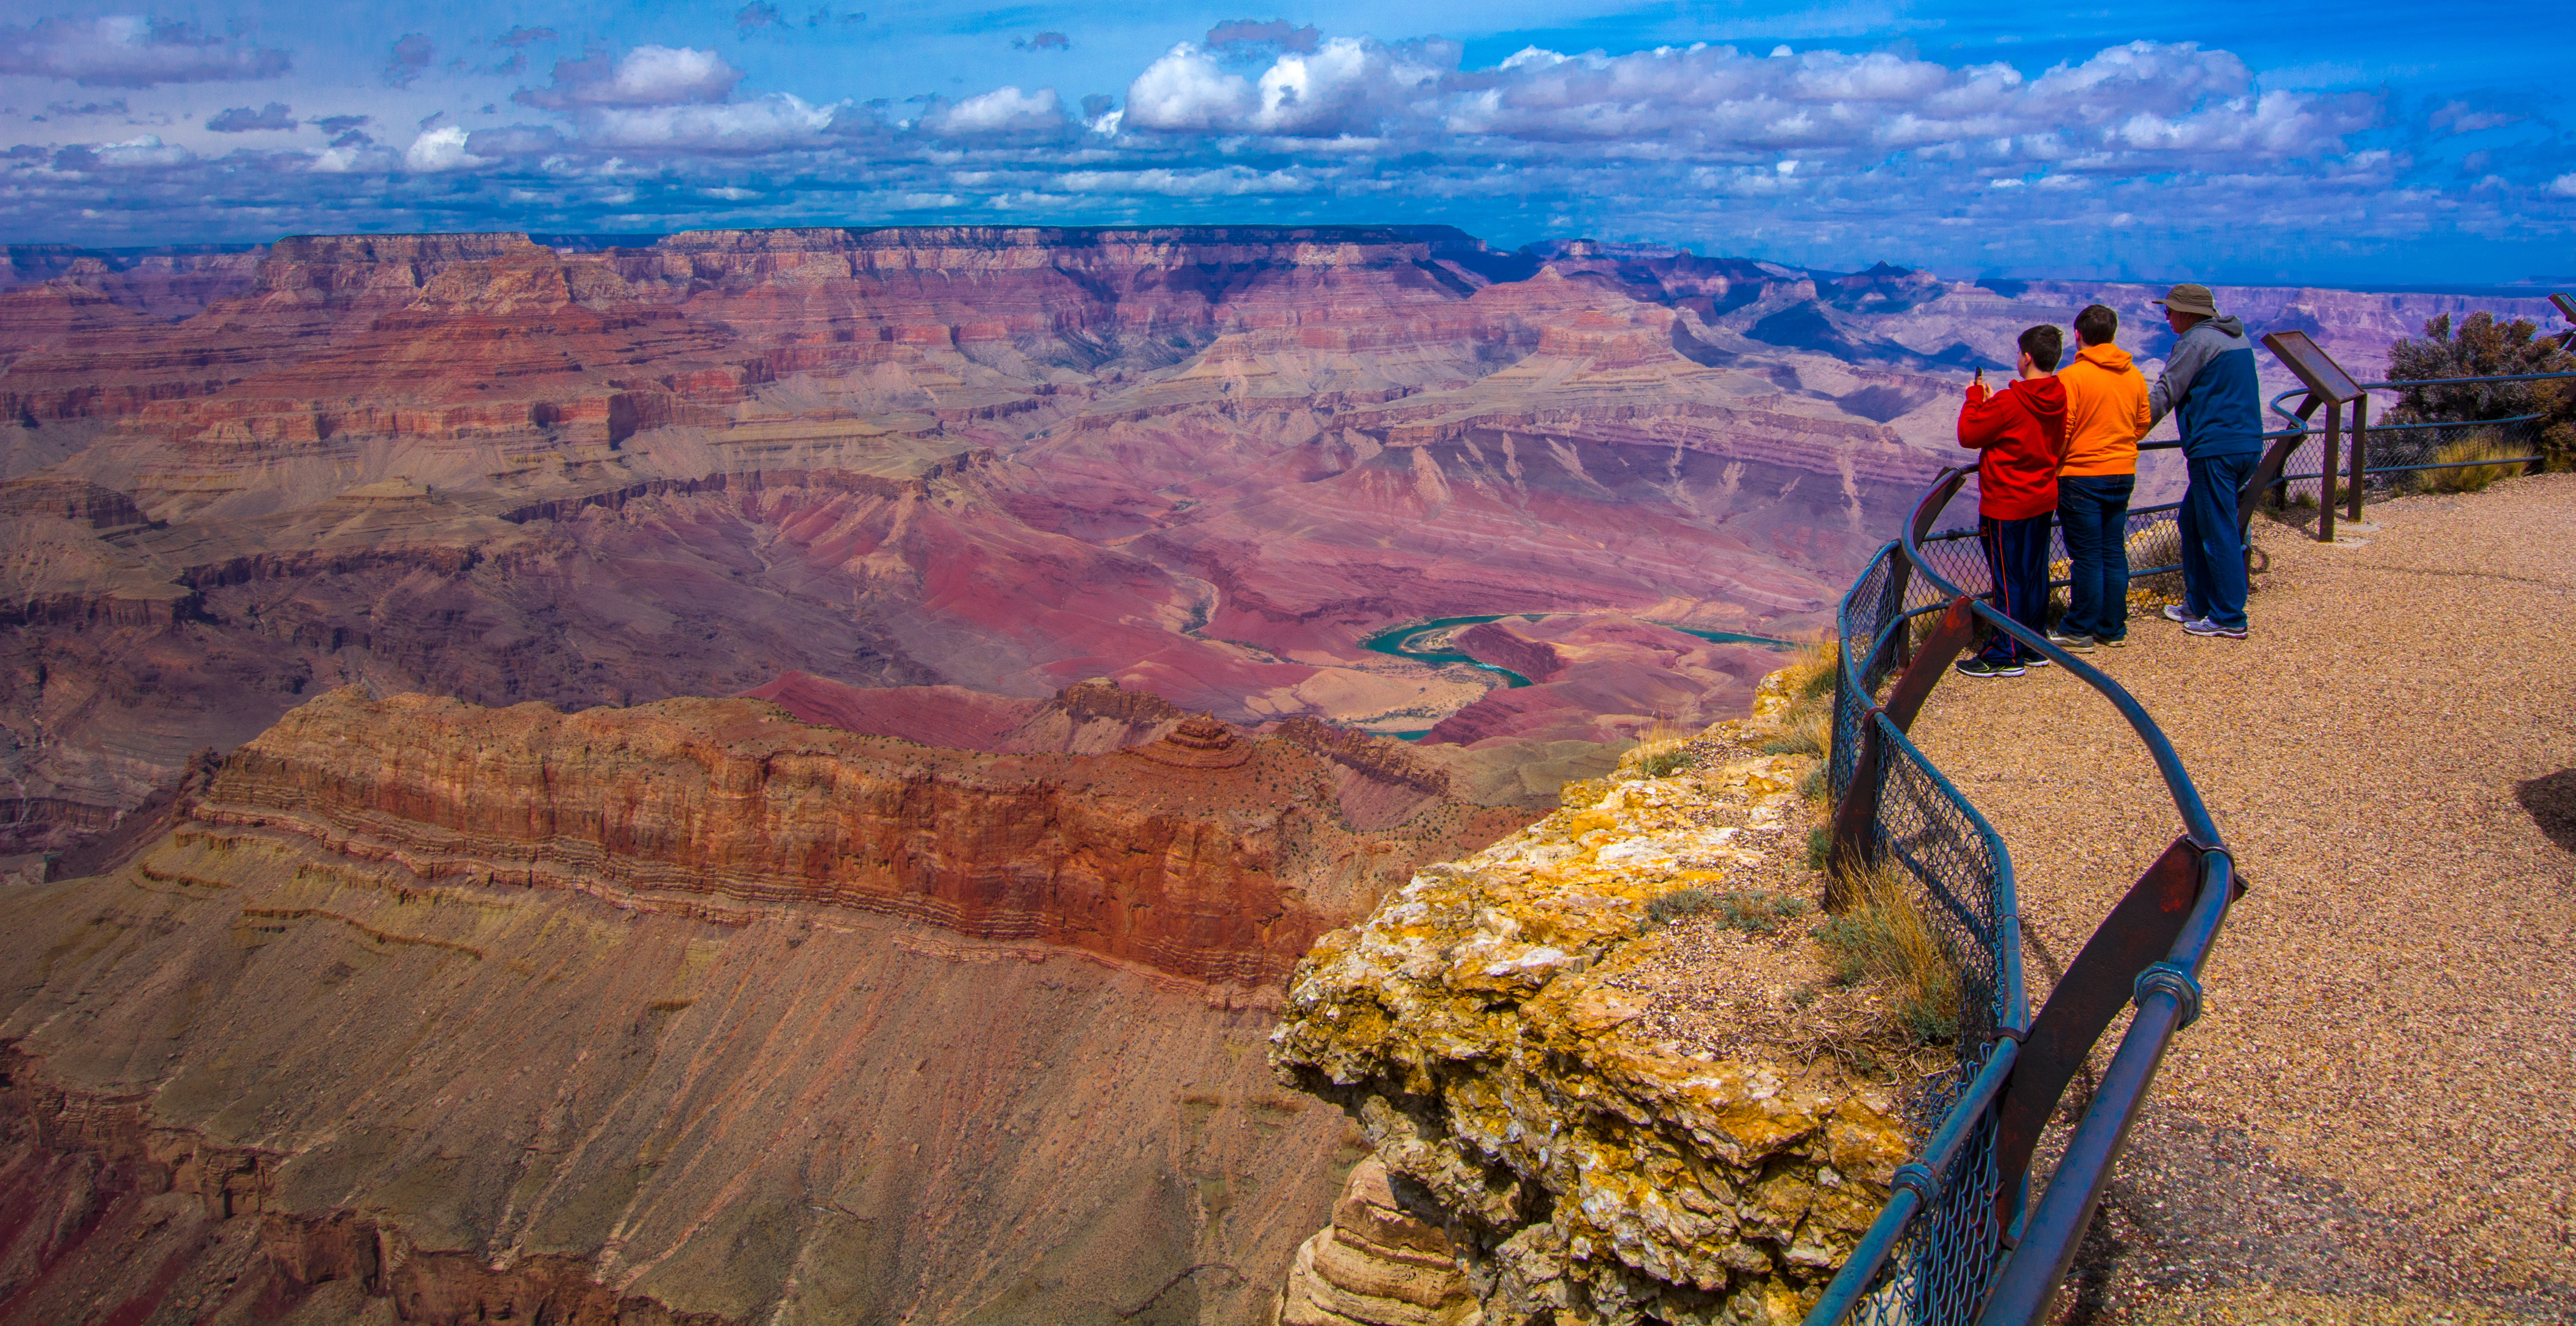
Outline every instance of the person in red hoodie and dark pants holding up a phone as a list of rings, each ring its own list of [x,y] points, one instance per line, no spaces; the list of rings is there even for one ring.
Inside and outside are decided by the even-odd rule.
[[[1986,394],[1986,373],[1968,386],[1958,412],[1958,445],[1976,448],[1976,541],[1994,577],[1989,602],[2007,618],[2048,631],[2048,518],[2058,510],[2058,466],[2066,461],[2066,389],[2050,373],[2066,337],[2056,327],[2022,332],[2022,378]],[[2048,664],[2035,649],[1996,631],[1973,659],[1968,677],[2020,677],[2025,664]]]

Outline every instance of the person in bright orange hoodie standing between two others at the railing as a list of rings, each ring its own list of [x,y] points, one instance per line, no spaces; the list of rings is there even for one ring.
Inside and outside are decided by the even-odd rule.
[[[2048,644],[2089,654],[2094,644],[2128,644],[2128,497],[2138,487],[2138,438],[2156,417],[2146,376],[2112,345],[2120,314],[2094,304],[2076,314],[2066,386],[2066,463],[2058,469],[2058,528],[2074,566],[2066,618]]]

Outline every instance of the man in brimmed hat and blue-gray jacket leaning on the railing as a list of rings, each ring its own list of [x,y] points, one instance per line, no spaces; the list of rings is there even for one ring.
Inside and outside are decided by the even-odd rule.
[[[2182,605],[2164,615],[2195,636],[2246,639],[2246,546],[2236,492],[2262,458],[2262,389],[2254,342],[2218,317],[2208,286],[2164,291],[2164,322],[2182,337],[2146,404],[2177,417],[2192,487],[2182,494]]]

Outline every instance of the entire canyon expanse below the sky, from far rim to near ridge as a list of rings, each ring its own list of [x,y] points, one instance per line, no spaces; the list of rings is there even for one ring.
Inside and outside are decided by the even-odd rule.
[[[2159,294],[0,250],[0,1321],[1262,1321],[1365,1151],[1265,1058],[1309,945],[1744,716],[1968,371],[2105,301],[2154,373]],[[2221,304],[2357,376],[2545,309]]]

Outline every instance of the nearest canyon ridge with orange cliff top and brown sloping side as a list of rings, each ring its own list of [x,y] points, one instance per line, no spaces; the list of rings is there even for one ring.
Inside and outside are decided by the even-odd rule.
[[[1170,729],[309,700],[8,888],[0,1321],[1260,1318],[1358,1156],[1278,976],[1525,816]]]

